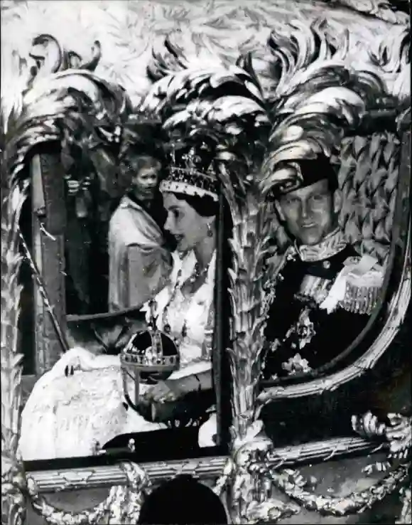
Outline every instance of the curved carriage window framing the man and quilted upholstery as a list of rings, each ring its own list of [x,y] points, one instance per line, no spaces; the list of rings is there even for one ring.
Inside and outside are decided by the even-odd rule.
[[[391,132],[349,137],[332,162],[303,161],[303,185],[273,199],[288,244],[269,314],[268,384],[308,381],[362,355],[359,336],[393,270],[400,150]]]

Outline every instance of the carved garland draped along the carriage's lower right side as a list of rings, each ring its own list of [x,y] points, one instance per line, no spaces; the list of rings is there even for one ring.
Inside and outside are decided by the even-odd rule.
[[[385,465],[374,464],[365,469],[372,472],[392,469],[378,482],[368,489],[354,491],[345,497],[322,496],[310,492],[308,479],[304,479],[298,470],[279,469],[268,465],[268,454],[271,442],[264,438],[255,438],[245,443],[234,452],[234,460],[228,460],[226,472],[217,482],[217,492],[220,494],[224,485],[231,486],[232,502],[229,509],[234,510],[234,523],[273,523],[279,519],[298,514],[305,508],[329,516],[346,516],[360,514],[370,509],[376,502],[399,489],[401,484],[408,482],[411,461],[412,430],[411,418],[399,414],[389,415],[390,425],[379,424],[371,413],[362,418],[352,418],[352,425],[357,433],[374,439],[384,436],[389,442],[388,461]],[[396,466],[399,462],[401,464]],[[271,497],[276,488],[292,499],[284,503]],[[407,488],[401,489],[403,511],[400,521],[410,513],[411,493]]]

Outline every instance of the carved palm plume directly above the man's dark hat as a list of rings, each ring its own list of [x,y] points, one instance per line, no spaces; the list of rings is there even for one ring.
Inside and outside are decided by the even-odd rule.
[[[315,28],[312,28],[312,35],[308,39],[313,43],[318,35]],[[303,51],[304,58],[293,58],[293,67],[300,64],[300,70],[293,70],[290,63],[283,60],[289,83],[288,87],[276,88],[271,108],[273,127],[260,181],[264,193],[279,182],[276,174],[279,162],[313,159],[318,154],[332,157],[345,134],[359,126],[364,112],[376,104],[377,99],[387,95],[378,75],[372,71],[354,72],[341,57],[335,58],[331,46],[323,47],[322,59],[313,53],[313,46],[308,43]],[[292,55],[285,46],[276,51],[276,56],[288,52]],[[308,57],[312,57],[313,62]]]

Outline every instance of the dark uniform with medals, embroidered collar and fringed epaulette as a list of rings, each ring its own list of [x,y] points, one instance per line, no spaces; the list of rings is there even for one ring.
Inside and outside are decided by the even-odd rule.
[[[315,246],[291,246],[268,283],[264,378],[310,372],[342,353],[366,326],[383,269],[336,230]]]

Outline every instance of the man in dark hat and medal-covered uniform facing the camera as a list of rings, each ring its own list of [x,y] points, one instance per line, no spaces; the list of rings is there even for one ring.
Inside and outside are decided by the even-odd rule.
[[[366,327],[384,275],[339,227],[342,195],[326,157],[278,164],[276,179],[276,213],[293,243],[269,282],[266,379],[308,373],[342,354]]]

